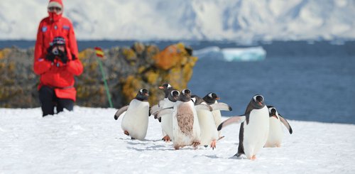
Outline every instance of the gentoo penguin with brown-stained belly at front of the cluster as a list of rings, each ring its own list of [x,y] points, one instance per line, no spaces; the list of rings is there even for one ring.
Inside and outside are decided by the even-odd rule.
[[[183,89],[173,108],[173,145],[180,147],[200,145],[200,124],[190,89]]]

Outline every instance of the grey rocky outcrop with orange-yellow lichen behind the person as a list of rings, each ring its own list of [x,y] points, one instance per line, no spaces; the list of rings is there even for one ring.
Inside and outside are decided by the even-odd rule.
[[[192,50],[183,43],[159,50],[155,45],[134,43],[131,48],[104,50],[102,59],[106,80],[114,107],[129,104],[138,89],[150,92],[149,102],[163,98],[158,86],[169,82],[177,89],[187,87],[192,68],[197,61]],[[84,72],[76,77],[77,105],[108,107],[104,80],[94,49],[79,54]],[[37,85],[39,77],[33,72],[33,48],[0,50],[0,107],[39,107]]]

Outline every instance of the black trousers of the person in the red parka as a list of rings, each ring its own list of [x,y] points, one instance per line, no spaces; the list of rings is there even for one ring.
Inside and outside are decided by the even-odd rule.
[[[41,87],[39,90],[39,96],[43,116],[53,115],[54,107],[56,107],[57,113],[62,112],[64,108],[72,111],[74,107],[74,101],[72,99],[58,98],[52,87]]]

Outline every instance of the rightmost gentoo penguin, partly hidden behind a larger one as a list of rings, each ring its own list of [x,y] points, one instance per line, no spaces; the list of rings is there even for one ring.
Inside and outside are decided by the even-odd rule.
[[[270,119],[270,131],[268,134],[268,141],[264,147],[280,147],[283,141],[283,128],[281,124],[284,124],[288,129],[288,132],[292,134],[292,128],[288,121],[281,116],[275,107],[268,106],[269,119]]]

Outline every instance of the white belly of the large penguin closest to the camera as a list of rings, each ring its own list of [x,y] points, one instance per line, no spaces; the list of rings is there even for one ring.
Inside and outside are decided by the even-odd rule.
[[[263,148],[268,139],[269,118],[268,108],[253,109],[249,114],[249,124],[244,121],[244,153],[251,158]]]

